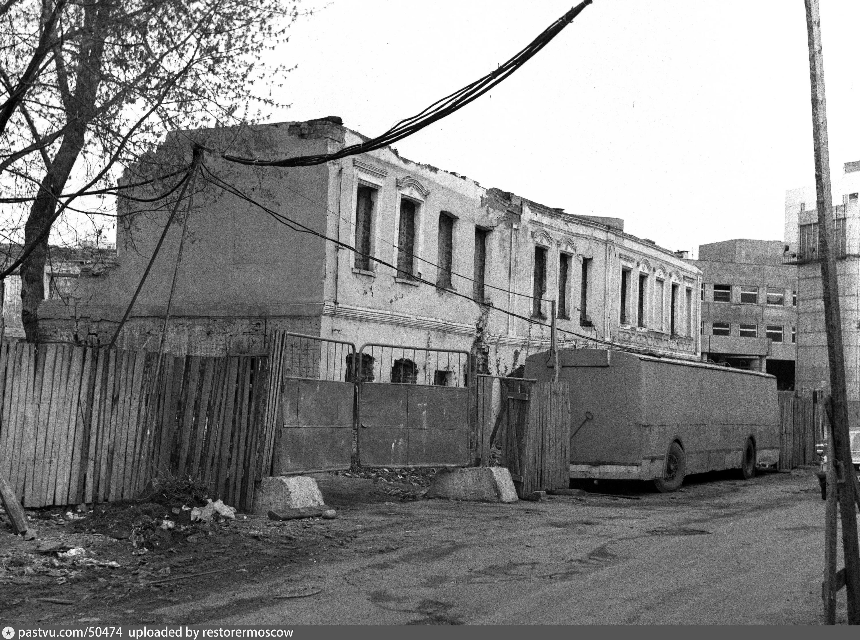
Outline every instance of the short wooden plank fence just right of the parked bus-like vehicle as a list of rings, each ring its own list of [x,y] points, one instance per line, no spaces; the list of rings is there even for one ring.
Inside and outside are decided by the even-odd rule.
[[[812,397],[779,391],[779,468],[794,469],[815,458],[822,410]]]

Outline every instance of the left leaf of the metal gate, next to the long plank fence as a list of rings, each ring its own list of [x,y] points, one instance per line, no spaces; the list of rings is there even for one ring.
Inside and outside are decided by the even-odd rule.
[[[273,475],[349,469],[353,451],[355,345],[275,331]]]

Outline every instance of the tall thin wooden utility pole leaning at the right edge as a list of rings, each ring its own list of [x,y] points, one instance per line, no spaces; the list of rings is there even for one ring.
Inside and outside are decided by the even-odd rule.
[[[857,544],[857,517],[854,514],[855,483],[848,474],[851,445],[848,431],[848,394],[845,389],[845,351],[842,346],[842,319],[839,312],[839,285],[836,256],[830,250],[833,237],[830,154],[827,149],[827,110],[824,91],[824,58],[821,53],[821,20],[818,0],[806,3],[809,46],[809,83],[812,93],[812,126],[815,152],[815,194],[818,208],[818,247],[821,265],[821,292],[827,335],[827,361],[830,368],[832,401],[832,464],[837,471],[839,512],[842,517],[842,545],[845,551],[845,588],[848,624],[860,625],[860,549]],[[841,467],[841,473],[840,471]],[[847,477],[847,482],[845,479]],[[841,479],[842,482],[839,482]],[[828,492],[831,487],[828,486]],[[829,578],[829,576],[827,576]],[[830,583],[826,579],[826,584]],[[825,595],[825,612],[830,594]]]

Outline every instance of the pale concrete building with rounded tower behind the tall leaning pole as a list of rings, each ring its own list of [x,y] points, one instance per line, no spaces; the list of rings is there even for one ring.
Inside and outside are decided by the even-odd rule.
[[[832,178],[833,242],[839,275],[839,307],[845,345],[845,375],[851,426],[860,425],[860,162],[845,163]],[[824,303],[818,262],[818,213],[814,186],[785,193],[785,240],[796,249],[786,262],[797,265],[796,384],[829,388]]]

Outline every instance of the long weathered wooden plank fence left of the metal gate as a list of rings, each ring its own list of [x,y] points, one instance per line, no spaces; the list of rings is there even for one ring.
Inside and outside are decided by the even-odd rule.
[[[267,360],[3,343],[0,472],[31,508],[127,500],[153,477],[199,477],[250,510],[268,473]]]

